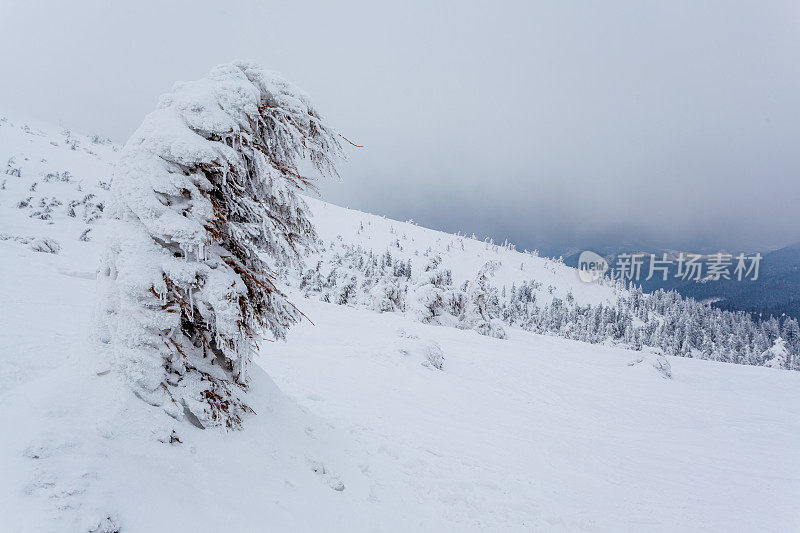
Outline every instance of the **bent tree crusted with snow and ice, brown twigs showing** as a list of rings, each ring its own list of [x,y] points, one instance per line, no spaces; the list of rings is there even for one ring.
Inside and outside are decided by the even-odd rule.
[[[201,427],[241,425],[256,340],[301,316],[274,274],[316,240],[300,167],[335,176],[341,155],[308,97],[250,63],[161,98],[117,164],[98,277],[101,340],[139,397]]]

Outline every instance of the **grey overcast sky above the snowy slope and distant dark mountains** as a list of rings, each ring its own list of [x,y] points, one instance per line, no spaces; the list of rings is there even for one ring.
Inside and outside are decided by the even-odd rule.
[[[549,253],[800,241],[800,2],[381,4],[0,0],[0,113],[124,142],[255,59],[365,145],[335,203]]]

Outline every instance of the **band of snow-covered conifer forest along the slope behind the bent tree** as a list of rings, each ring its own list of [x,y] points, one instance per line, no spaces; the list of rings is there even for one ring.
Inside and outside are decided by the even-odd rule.
[[[369,219],[359,221],[360,232],[365,231],[365,223]],[[395,239],[383,253],[341,239],[323,244],[324,252],[312,259],[298,287],[306,297],[325,302],[407,312],[422,322],[475,329],[500,338],[503,326],[517,327],[592,344],[634,350],[647,346],[668,355],[800,370],[800,327],[792,317],[754,319],[674,291],[643,294],[635,285],[608,280],[603,280],[607,299],[591,303],[581,297],[580,286],[559,295],[555,285],[544,286],[535,275],[525,275],[527,254],[516,253],[513,245],[491,242],[473,241],[469,246],[482,247],[486,258],[494,255],[497,259],[476,269],[473,278],[454,282],[447,265],[459,260],[470,239],[439,237],[420,253],[406,235],[398,235],[393,227],[390,234]],[[405,252],[404,245],[413,252]],[[567,270],[557,260],[531,262]],[[510,282],[504,277],[495,279],[493,272],[508,263],[520,274]],[[780,364],[773,361],[771,351],[776,343],[787,350]]]

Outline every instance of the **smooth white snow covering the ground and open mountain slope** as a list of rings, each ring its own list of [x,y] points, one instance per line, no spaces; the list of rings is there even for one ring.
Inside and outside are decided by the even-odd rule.
[[[800,530],[796,372],[667,357],[667,379],[643,352],[290,292],[310,322],[263,343],[245,429],[176,423],[89,340],[93,213],[117,153],[96,141],[0,121],[0,531]],[[32,218],[42,199],[50,217]],[[383,252],[406,234],[414,256],[459,240],[311,207],[326,241]],[[36,251],[44,240],[58,253]],[[614,297],[556,262],[464,242],[443,255],[459,280],[502,255],[502,279]]]

